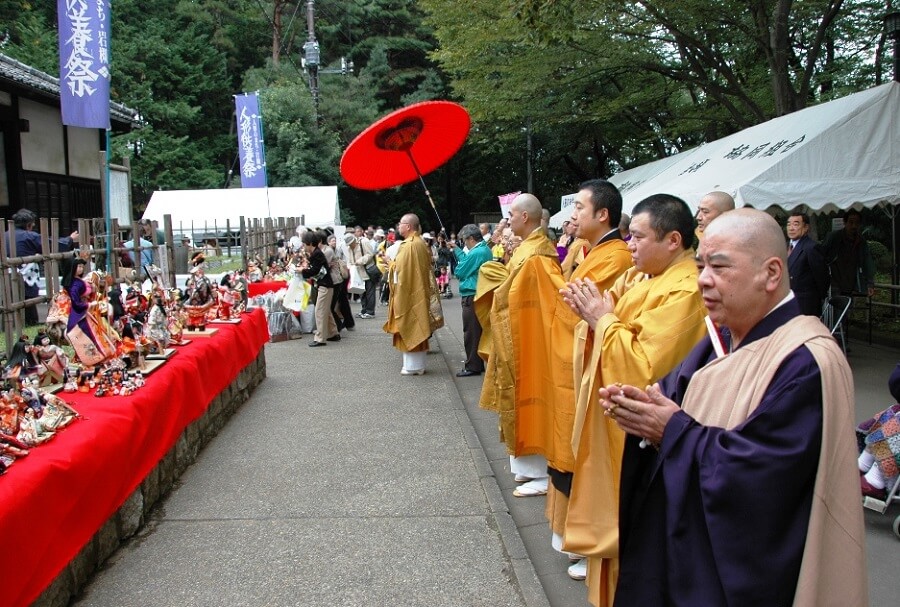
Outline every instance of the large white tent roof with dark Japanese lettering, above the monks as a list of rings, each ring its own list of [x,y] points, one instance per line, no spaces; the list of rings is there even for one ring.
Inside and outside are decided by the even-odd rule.
[[[661,192],[693,209],[713,190],[730,193],[739,207],[758,209],[803,204],[815,212],[896,204],[900,83],[781,116],[673,158],[655,177],[623,188],[626,213]]]

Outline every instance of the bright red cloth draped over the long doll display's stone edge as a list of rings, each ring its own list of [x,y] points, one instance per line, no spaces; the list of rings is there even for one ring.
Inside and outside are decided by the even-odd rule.
[[[241,383],[236,380],[257,359],[264,376],[269,332],[263,310],[217,328],[215,335],[178,347],[130,396],[59,394],[82,418],[0,477],[0,537],[8,548],[3,604],[31,604],[135,490],[143,489],[142,482],[174,452],[189,424],[208,414],[223,394],[236,400],[235,384]],[[148,498],[140,491],[137,497],[143,508]]]

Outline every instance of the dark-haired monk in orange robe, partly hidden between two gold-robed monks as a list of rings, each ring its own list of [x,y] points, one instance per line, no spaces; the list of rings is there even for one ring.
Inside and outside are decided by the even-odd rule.
[[[631,252],[618,229],[622,214],[622,195],[608,181],[586,181],[575,195],[572,211],[572,218],[568,222],[575,239],[572,246],[585,243],[588,254],[575,268],[571,278],[590,279],[600,290],[612,288],[616,279],[631,267]],[[565,283],[559,281],[558,289],[565,289]],[[560,551],[571,476],[575,469],[575,456],[572,452],[575,419],[572,353],[575,327],[580,320],[563,298],[556,295],[551,326],[553,347],[549,352],[550,367],[555,373],[555,398],[546,409],[528,406],[519,412],[520,423],[543,425],[552,430],[541,435],[548,440],[540,448],[547,458],[551,479],[546,514],[553,531],[553,547]],[[581,373],[582,369],[579,367],[579,377]],[[584,579],[585,574],[579,573],[580,569],[586,570],[587,563],[573,565],[569,569],[569,575],[575,579]]]

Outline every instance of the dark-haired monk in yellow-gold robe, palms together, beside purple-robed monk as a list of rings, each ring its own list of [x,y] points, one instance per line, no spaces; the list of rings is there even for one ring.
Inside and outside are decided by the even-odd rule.
[[[646,386],[671,371],[705,334],[697,287],[694,222],[687,204],[668,194],[634,208],[628,248],[634,268],[611,289],[589,279],[564,298],[583,319],[575,337],[572,432],[575,470],[563,548],[588,557],[588,599],[612,605],[618,578],[619,477],[625,435],[598,402],[611,383]]]

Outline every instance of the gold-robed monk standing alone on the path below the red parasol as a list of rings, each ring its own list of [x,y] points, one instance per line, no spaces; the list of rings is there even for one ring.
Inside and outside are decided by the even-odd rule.
[[[394,347],[403,353],[401,375],[425,373],[428,339],[444,324],[443,314],[438,312],[440,299],[435,297],[437,284],[431,270],[431,252],[419,235],[420,230],[416,215],[403,216],[403,242],[387,274],[391,297],[384,331],[394,336]],[[432,310],[432,302],[438,310]]]

